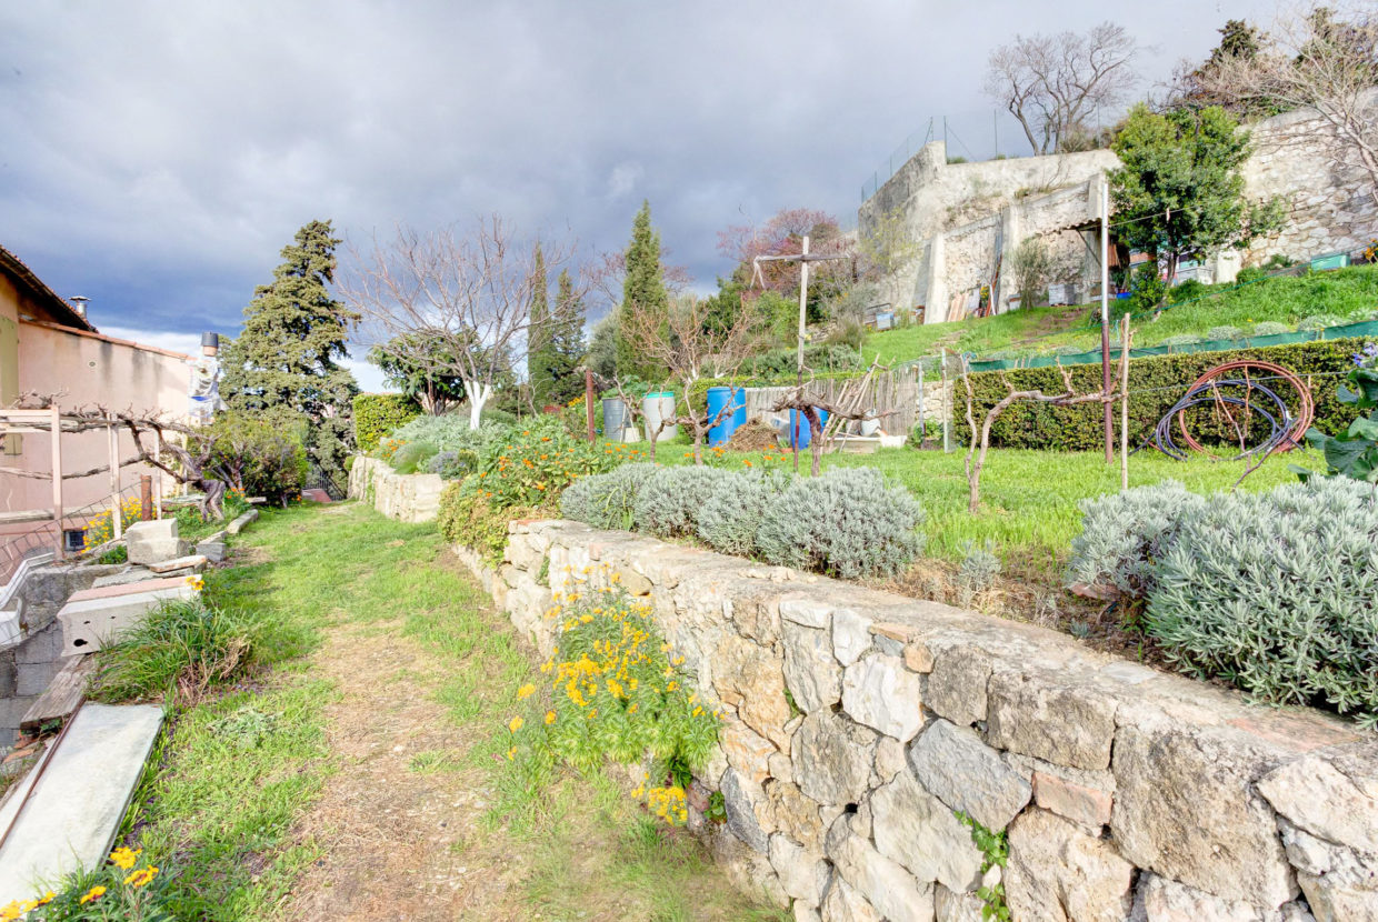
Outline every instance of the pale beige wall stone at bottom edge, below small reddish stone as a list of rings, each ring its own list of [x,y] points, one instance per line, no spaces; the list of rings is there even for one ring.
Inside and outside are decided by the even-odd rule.
[[[1112,922],[1129,916],[1134,865],[1115,846],[1047,810],[1010,826],[1005,897],[1018,919]]]

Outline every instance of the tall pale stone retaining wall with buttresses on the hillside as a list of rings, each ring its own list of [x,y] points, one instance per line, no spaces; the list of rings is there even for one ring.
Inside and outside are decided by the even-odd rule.
[[[1254,153],[1244,165],[1246,194],[1280,196],[1288,208],[1283,230],[1239,254],[1213,255],[1204,276],[1231,281],[1243,265],[1273,255],[1304,260],[1355,254],[1378,236],[1378,198],[1361,170],[1337,161],[1324,124],[1313,110],[1283,113],[1253,127]],[[1111,150],[1047,154],[984,163],[947,161],[941,141],[926,145],[857,212],[858,233],[901,214],[916,244],[915,256],[883,283],[883,299],[897,307],[923,306],[925,322],[960,320],[983,285],[991,285],[995,313],[1017,306],[1014,249],[1040,237],[1057,266],[1064,300],[1100,292],[1100,241],[1105,171],[1119,165]],[[1079,230],[1080,229],[1080,230]]]

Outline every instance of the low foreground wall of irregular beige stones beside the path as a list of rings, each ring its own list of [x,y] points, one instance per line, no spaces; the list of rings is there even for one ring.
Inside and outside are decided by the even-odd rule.
[[[513,531],[499,572],[456,550],[543,652],[553,593],[617,573],[650,601],[728,715],[690,827],[796,919],[981,919],[958,812],[1009,832],[1014,919],[1378,919],[1378,740],[1350,724],[936,602],[573,522]]]

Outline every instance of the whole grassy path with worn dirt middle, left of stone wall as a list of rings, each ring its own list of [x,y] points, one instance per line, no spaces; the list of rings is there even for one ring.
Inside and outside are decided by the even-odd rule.
[[[207,598],[252,616],[274,667],[176,715],[125,824],[179,918],[338,918],[367,894],[387,918],[780,918],[608,776],[510,790],[535,652],[433,525],[306,506],[236,554]],[[477,889],[437,897],[456,867]]]

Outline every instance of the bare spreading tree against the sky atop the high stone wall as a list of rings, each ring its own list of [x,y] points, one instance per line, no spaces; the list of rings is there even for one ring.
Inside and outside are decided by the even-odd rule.
[[[1018,119],[1036,153],[1062,152],[1089,134],[1097,109],[1124,99],[1137,80],[1138,51],[1134,36],[1113,22],[1084,34],[1017,34],[991,52],[985,92]]]

